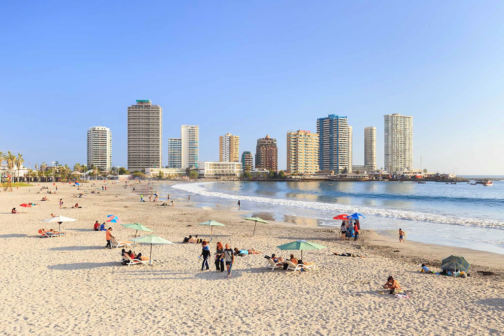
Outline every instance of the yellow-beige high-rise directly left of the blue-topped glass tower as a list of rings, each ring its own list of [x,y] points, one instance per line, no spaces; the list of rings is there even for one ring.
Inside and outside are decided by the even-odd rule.
[[[319,134],[309,130],[287,132],[287,173],[319,171]]]

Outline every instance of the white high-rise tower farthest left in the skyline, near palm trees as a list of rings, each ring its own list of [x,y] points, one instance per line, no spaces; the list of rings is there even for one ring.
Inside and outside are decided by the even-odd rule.
[[[105,172],[112,168],[112,132],[108,127],[88,129],[88,167],[91,165]]]

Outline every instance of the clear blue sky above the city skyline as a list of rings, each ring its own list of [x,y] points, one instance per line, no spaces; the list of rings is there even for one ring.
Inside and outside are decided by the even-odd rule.
[[[86,161],[86,130],[112,130],[127,165],[126,111],[163,107],[167,141],[200,125],[200,158],[218,137],[254,152],[268,133],[285,169],[286,132],[347,115],[353,163],[363,128],[414,116],[414,165],[504,174],[504,3],[2,2],[0,151],[35,163]]]

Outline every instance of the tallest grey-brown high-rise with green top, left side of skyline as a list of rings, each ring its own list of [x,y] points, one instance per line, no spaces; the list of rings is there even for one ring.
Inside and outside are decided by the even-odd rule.
[[[161,167],[163,109],[148,99],[128,107],[128,170]]]

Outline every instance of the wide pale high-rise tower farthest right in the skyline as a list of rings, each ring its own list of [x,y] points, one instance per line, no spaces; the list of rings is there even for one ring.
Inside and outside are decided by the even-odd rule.
[[[386,114],[385,169],[393,173],[413,168],[413,117],[399,113]]]

